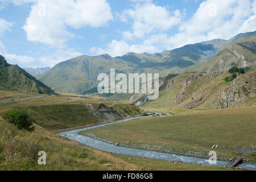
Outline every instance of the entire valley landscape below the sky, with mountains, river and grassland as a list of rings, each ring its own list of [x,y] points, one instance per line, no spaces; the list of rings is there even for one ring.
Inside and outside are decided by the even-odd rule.
[[[36,78],[1,56],[0,168],[243,170],[224,167],[240,156],[254,166],[255,52],[248,32],[162,53],[79,56],[42,74],[29,69]],[[159,98],[97,93],[98,74],[112,68],[160,73]],[[27,113],[35,131],[8,123],[10,110]],[[46,166],[36,165],[39,150]],[[208,165],[213,150],[219,166]]]

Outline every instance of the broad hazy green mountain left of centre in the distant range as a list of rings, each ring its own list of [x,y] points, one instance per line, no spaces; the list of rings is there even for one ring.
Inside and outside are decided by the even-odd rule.
[[[84,93],[97,85],[98,74],[109,73],[112,68],[115,68],[117,73],[132,70],[125,61],[109,55],[79,56],[55,65],[37,78],[55,91]]]

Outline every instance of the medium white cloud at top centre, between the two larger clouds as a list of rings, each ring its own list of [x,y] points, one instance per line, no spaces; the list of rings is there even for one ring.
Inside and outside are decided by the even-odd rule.
[[[151,32],[166,31],[176,26],[181,22],[182,15],[179,10],[171,13],[166,7],[156,6],[151,1],[146,1],[142,4],[137,3],[134,9],[123,11],[120,18],[123,22],[133,20],[133,35],[136,38],[143,38]]]

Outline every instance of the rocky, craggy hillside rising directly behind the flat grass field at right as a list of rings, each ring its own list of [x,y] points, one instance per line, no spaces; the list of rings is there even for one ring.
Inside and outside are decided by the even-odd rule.
[[[216,73],[183,73],[163,79],[159,99],[143,107],[171,109],[226,109],[256,104],[256,71],[238,75],[231,82],[228,71]]]

